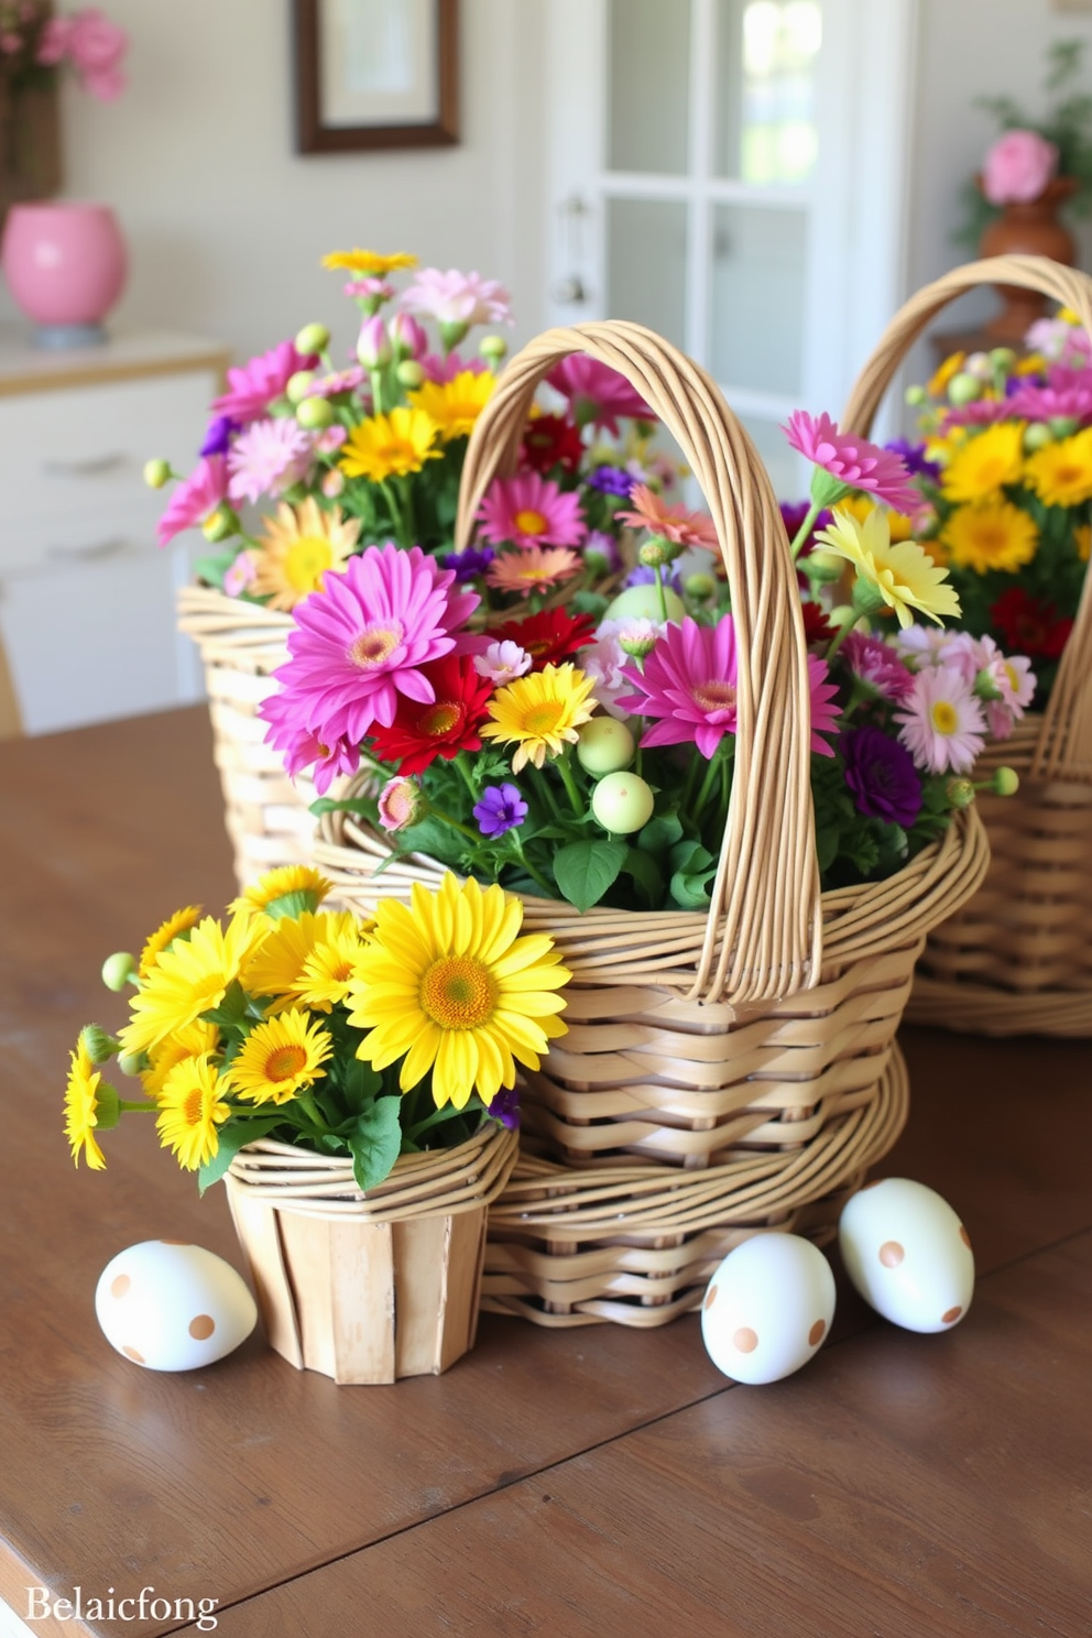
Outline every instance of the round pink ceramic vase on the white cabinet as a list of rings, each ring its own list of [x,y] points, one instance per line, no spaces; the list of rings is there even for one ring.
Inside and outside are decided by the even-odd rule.
[[[108,205],[47,200],[13,205],[0,267],[39,346],[105,339],[102,321],[124,288],[124,239]]]

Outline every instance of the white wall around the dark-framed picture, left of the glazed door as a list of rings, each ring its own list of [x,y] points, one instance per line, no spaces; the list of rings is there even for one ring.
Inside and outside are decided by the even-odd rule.
[[[288,0],[103,10],[131,36],[129,87],[113,105],[65,88],[64,192],[118,213],[131,277],[116,321],[246,357],[318,318],[347,347],[357,310],[319,257],[359,244],[499,278],[511,336],[542,328],[537,5],[462,0],[457,147],[332,156],[293,152]]]

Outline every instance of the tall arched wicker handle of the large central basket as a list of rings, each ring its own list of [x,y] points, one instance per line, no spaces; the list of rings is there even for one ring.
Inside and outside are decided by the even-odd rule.
[[[691,998],[774,1001],[819,983],[822,917],[804,622],[766,468],[699,365],[642,324],[548,329],[506,365],[470,436],[455,542],[516,470],[539,382],[570,352],[617,370],[676,439],[720,541],[738,637],[737,771]]]

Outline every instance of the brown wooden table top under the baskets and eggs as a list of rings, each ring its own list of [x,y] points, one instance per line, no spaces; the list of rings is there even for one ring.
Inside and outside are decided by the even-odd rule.
[[[234,893],[203,709],[0,745],[0,1597],[170,1609],[31,1631],[1089,1638],[1087,1042],[904,1030],[882,1171],[956,1206],[979,1271],[946,1335],[840,1276],[830,1342],[769,1387],[720,1376],[693,1315],[485,1315],[445,1376],[393,1387],[298,1373],[260,1332],[159,1374],[108,1346],[95,1281],[156,1237],[241,1266],[223,1194],[138,1120],[74,1171],[61,1102],[79,1027],[121,1022],[102,958]]]

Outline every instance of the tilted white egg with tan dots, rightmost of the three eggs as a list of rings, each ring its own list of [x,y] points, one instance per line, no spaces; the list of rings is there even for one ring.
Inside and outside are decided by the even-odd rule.
[[[838,1247],[860,1294],[894,1325],[951,1330],[971,1307],[971,1237],[948,1201],[923,1183],[868,1183],[842,1209]]]

